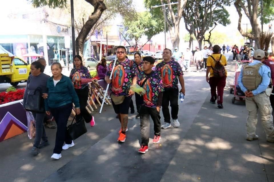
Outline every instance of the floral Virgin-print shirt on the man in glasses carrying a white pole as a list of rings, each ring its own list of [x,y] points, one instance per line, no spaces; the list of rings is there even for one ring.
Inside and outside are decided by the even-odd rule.
[[[110,76],[113,67],[113,61],[109,64],[106,71],[106,76]],[[116,61],[113,73],[112,82],[110,84],[110,92],[115,96],[127,96],[132,79],[137,76],[138,70],[133,61],[126,59],[123,62]]]

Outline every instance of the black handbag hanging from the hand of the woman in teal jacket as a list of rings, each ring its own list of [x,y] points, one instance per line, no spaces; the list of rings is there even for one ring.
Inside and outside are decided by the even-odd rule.
[[[74,120],[75,120],[75,123],[73,123]],[[70,135],[72,140],[75,140],[76,138],[85,134],[87,132],[85,120],[82,118],[82,119],[79,119],[78,121],[76,121],[76,115],[75,115],[71,124],[68,125],[67,131],[68,131],[68,134]]]

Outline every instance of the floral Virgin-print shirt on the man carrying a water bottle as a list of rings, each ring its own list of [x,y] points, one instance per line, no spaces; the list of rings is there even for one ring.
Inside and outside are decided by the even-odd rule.
[[[176,61],[162,61],[156,65],[155,71],[161,75],[164,88],[178,88],[178,76],[184,75]]]

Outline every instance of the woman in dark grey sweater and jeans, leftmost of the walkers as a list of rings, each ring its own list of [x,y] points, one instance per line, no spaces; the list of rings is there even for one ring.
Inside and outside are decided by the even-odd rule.
[[[46,92],[47,80],[49,76],[44,74],[45,66],[40,62],[31,63],[31,75],[28,78],[27,86],[23,98],[23,108],[31,111],[35,118],[35,140],[30,154],[37,155],[40,153],[39,148],[49,145],[48,137],[43,124],[45,117],[44,99],[42,93]],[[42,139],[42,142],[40,143]]]

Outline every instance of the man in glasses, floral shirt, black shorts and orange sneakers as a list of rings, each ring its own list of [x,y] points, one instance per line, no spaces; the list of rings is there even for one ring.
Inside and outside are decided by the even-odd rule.
[[[121,104],[114,104],[112,101],[112,106],[116,114],[118,114],[119,121],[121,123],[121,129],[119,131],[118,142],[125,142],[126,131],[128,125],[128,109],[131,102],[131,97],[134,94],[130,90],[132,84],[137,82],[137,67],[133,61],[126,59],[126,48],[124,46],[118,46],[116,49],[117,61],[112,73],[112,78],[110,74],[114,62],[111,62],[106,71],[105,81],[110,84],[110,95],[114,96],[125,96],[124,101]]]

